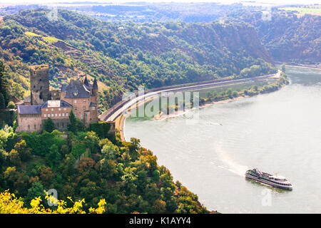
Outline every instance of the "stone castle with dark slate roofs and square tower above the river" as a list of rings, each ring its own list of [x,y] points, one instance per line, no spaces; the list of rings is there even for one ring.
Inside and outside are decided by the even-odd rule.
[[[73,80],[61,90],[49,90],[49,66],[30,67],[31,95],[17,104],[17,132],[41,130],[44,120],[51,118],[58,130],[66,130],[73,110],[86,127],[98,121],[98,84],[87,77]]]

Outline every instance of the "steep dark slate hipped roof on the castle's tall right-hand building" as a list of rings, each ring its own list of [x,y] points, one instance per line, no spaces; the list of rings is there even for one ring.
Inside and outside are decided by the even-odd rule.
[[[65,98],[90,98],[91,92],[79,80],[71,80],[66,87]]]

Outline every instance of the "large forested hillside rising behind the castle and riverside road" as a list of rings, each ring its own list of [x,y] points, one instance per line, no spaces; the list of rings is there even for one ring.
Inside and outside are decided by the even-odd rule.
[[[27,66],[41,63],[49,64],[53,87],[71,77],[98,78],[100,111],[141,85],[238,76],[251,66],[259,66],[259,74],[272,71],[270,54],[244,23],[112,24],[61,9],[51,21],[49,11],[19,11],[1,22],[1,58],[16,93],[28,89]]]

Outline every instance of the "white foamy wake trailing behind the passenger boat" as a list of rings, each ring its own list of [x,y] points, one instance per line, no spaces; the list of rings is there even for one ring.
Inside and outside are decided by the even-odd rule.
[[[215,145],[215,152],[218,155],[218,158],[223,162],[225,170],[233,172],[236,175],[245,177],[245,172],[249,168],[246,165],[240,165],[238,162],[235,162],[230,155],[228,155],[225,150],[222,149],[222,145]]]

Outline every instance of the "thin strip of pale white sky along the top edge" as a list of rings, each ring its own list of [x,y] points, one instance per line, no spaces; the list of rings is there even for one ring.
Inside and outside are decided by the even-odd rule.
[[[56,2],[73,2],[73,1],[95,1],[95,0],[0,0],[0,5],[2,4],[49,4]],[[233,3],[240,2],[240,0],[107,0],[99,1],[100,3],[121,3],[121,2],[138,2],[138,1],[147,1],[147,2],[221,2],[221,3]],[[268,4],[321,4],[321,0],[258,0],[260,3]]]

